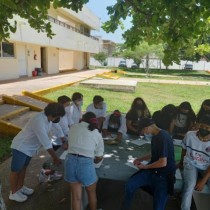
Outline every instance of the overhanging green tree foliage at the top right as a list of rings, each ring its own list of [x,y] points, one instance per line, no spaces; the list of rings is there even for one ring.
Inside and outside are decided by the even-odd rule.
[[[150,45],[164,43],[166,66],[179,63],[183,47],[195,46],[210,34],[209,0],[117,0],[107,7],[110,20],[103,25],[114,32],[122,20],[132,17],[133,26],[123,37],[130,47],[146,41]]]

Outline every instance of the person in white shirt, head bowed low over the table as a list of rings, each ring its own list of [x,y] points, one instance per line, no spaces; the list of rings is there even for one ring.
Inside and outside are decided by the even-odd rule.
[[[120,142],[126,131],[126,120],[119,110],[115,110],[111,115],[106,116],[102,128],[104,137],[111,136],[114,133],[117,134],[115,141]]]

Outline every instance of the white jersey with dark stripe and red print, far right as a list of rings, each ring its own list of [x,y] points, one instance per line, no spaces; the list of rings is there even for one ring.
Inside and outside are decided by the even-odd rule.
[[[200,141],[197,131],[187,132],[182,147],[187,150],[184,162],[201,170],[206,170],[210,166],[210,141]]]

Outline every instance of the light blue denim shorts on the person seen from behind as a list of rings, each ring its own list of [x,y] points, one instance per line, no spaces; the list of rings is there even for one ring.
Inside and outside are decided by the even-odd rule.
[[[97,182],[93,158],[68,154],[64,163],[64,179],[70,183],[82,183],[88,187]]]

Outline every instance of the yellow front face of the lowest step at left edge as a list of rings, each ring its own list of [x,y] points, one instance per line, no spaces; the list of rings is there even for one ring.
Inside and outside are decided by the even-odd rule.
[[[0,132],[5,135],[15,136],[21,131],[21,128],[4,120],[0,120]]]

